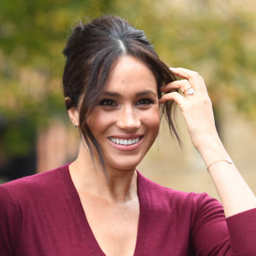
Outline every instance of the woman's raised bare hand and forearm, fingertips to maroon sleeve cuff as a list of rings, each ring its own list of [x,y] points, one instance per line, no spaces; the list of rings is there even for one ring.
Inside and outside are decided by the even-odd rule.
[[[183,80],[167,84],[162,87],[162,92],[180,88],[185,97],[172,92],[165,94],[159,103],[173,100],[179,105],[192,143],[207,166],[226,217],[256,208],[255,195],[230,161],[218,136],[211,100],[203,78],[197,72],[184,68],[171,68],[171,71]]]

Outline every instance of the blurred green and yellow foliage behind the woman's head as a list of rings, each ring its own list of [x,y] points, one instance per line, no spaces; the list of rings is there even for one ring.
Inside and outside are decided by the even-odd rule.
[[[230,101],[256,117],[256,7],[220,0],[0,1],[2,154],[32,149],[38,126],[67,120],[62,49],[83,16],[120,15],[145,30],[170,66],[198,71],[215,104]]]

